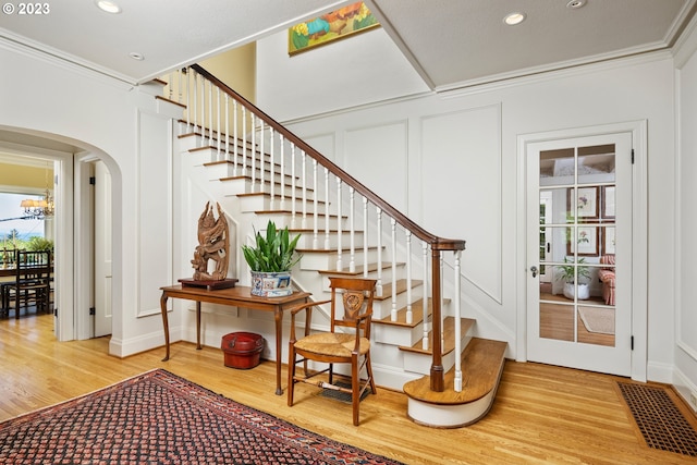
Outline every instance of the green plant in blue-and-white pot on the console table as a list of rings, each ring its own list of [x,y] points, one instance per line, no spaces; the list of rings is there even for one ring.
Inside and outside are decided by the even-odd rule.
[[[291,269],[301,259],[295,253],[297,234],[291,238],[288,227],[278,229],[273,221],[266,227],[266,234],[255,231],[255,245],[243,245],[242,253],[252,272],[252,294],[279,297],[293,293]]]

